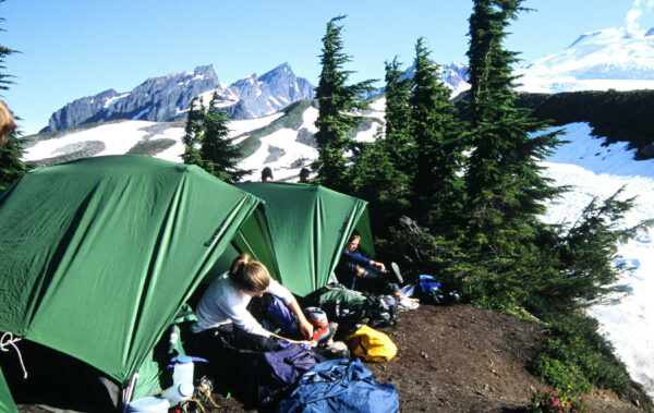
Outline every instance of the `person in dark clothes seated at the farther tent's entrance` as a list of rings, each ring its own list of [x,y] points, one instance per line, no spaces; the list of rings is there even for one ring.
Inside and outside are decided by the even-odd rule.
[[[342,269],[339,271],[339,282],[356,291],[402,297],[399,286],[403,280],[397,264],[391,264],[392,272],[387,271],[383,263],[370,259],[356,251],[360,241],[361,235],[354,233],[346,244],[339,264]]]

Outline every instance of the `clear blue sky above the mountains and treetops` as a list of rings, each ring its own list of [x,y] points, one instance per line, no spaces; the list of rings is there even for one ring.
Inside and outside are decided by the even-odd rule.
[[[595,29],[654,27],[654,0],[526,0],[537,11],[511,26],[507,48],[532,61]],[[425,36],[439,63],[467,63],[469,0],[5,0],[0,45],[15,84],[3,94],[25,133],[65,104],[148,77],[213,64],[221,83],[289,62],[316,84],[326,23],[343,21],[351,81],[383,78],[396,54],[407,65]],[[628,17],[629,16],[629,17]]]

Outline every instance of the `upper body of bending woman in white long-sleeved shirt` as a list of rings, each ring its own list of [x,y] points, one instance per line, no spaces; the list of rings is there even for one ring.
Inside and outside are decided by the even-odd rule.
[[[307,321],[293,294],[270,278],[266,267],[251,259],[247,254],[237,257],[229,272],[214,280],[205,291],[195,309],[197,321],[191,327],[192,331],[194,333],[209,331],[210,336],[215,336],[215,330],[231,325],[230,327],[246,333],[279,337],[266,330],[247,311],[252,297],[263,296],[265,292],[281,299],[298,317],[302,337],[310,340],[313,337],[313,325]]]

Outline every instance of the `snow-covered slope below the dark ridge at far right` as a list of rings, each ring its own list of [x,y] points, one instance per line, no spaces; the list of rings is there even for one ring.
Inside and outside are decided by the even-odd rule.
[[[638,197],[634,209],[619,224],[654,219],[654,159],[634,161],[633,151],[626,150],[622,143],[601,146],[602,141],[590,136],[585,123],[566,129],[571,143],[547,159],[546,175],[557,184],[572,185],[573,190],[548,206],[545,220],[574,222],[593,197],[605,199],[621,186],[623,198]],[[619,246],[618,263],[626,264],[628,271],[618,283],[627,288],[628,295],[590,308],[632,378],[643,385],[650,397],[654,397],[653,238],[654,231],[650,230]]]

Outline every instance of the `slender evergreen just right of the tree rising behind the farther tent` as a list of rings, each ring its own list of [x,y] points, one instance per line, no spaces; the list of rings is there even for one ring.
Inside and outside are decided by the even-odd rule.
[[[415,147],[410,135],[411,111],[409,96],[411,82],[401,80],[404,72],[400,70],[397,57],[386,62],[386,134],[385,151],[392,165],[405,175],[412,170]]]

